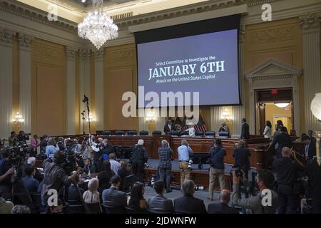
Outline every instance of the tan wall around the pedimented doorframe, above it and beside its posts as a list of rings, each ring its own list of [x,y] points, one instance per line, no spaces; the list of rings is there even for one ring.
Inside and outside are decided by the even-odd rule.
[[[275,58],[297,68],[303,68],[302,30],[298,18],[269,21],[246,26],[244,43],[245,72],[268,58]],[[300,106],[304,107],[303,76],[299,78]],[[248,81],[245,81],[245,115],[249,119]],[[304,108],[300,108],[301,131],[305,131]]]

